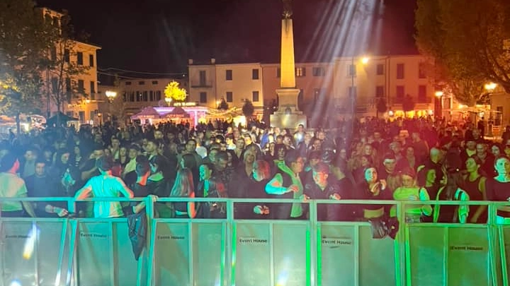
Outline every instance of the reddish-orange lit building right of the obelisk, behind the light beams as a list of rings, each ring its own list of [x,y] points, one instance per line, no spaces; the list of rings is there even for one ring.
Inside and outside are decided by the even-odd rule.
[[[349,114],[348,105],[355,97],[357,116],[375,115],[381,98],[395,116],[403,115],[404,98],[415,104],[409,116],[433,114],[436,90],[426,60],[421,55],[337,58],[334,99],[339,113]]]

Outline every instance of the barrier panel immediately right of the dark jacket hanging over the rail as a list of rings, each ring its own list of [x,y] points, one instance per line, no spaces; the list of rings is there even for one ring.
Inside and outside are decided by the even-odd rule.
[[[227,285],[225,220],[157,218],[151,228],[152,285]]]

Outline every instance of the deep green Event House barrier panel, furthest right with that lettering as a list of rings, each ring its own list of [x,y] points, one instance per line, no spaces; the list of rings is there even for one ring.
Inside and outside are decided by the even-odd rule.
[[[493,285],[489,225],[403,225],[406,232],[407,286]]]

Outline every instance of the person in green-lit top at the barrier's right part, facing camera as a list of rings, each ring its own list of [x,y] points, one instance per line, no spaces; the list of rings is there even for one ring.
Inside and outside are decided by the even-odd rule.
[[[429,201],[429,193],[425,188],[416,186],[416,174],[410,168],[402,170],[401,174],[402,186],[399,186],[393,192],[395,201]],[[429,216],[432,213],[431,205],[407,205],[405,208],[406,222],[421,222],[423,216]],[[397,215],[395,206],[390,211],[392,217]]]

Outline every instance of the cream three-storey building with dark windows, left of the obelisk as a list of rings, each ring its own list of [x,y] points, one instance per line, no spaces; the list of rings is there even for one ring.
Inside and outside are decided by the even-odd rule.
[[[217,108],[221,100],[229,107],[242,107],[250,100],[255,112],[263,110],[263,69],[259,63],[196,64],[189,60],[189,101]]]

